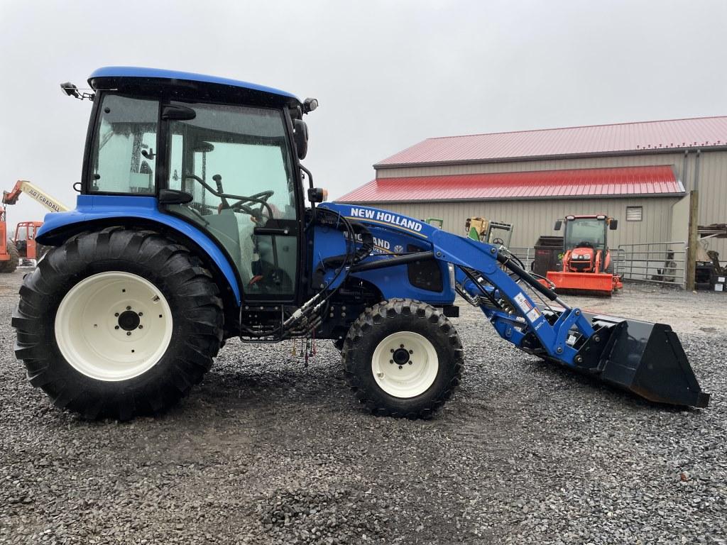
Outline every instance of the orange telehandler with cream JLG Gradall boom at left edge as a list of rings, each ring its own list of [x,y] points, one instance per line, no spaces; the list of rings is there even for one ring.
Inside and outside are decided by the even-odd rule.
[[[52,212],[68,211],[68,206],[24,179],[19,179],[12,191],[3,192],[2,203],[17,203],[20,193],[29,195]],[[8,238],[5,212],[6,209],[0,207],[0,273],[12,273],[21,259],[24,263],[37,262],[48,247],[36,243],[36,233],[43,222],[20,222],[15,227],[15,236]]]

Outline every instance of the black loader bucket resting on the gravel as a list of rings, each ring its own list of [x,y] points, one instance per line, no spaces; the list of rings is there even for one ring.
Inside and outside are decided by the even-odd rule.
[[[656,403],[706,407],[677,334],[663,323],[593,317],[596,333],[579,348],[577,368]]]

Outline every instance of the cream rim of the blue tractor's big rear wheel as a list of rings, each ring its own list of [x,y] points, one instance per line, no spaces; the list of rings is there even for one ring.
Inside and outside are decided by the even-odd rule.
[[[55,340],[63,358],[97,380],[144,374],[171,339],[169,303],[153,283],[132,273],[84,278],[65,294],[55,316]]]

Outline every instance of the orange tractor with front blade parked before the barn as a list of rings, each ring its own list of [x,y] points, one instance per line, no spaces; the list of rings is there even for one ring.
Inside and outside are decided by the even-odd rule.
[[[618,220],[604,214],[566,216],[555,222],[555,230],[561,230],[563,223],[566,230],[561,270],[547,272],[548,283],[555,286],[555,291],[611,296],[622,288],[608,251],[608,230],[615,230]]]

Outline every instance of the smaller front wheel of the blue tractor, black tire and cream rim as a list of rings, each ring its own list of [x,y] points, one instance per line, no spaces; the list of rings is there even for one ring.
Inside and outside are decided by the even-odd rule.
[[[459,335],[441,310],[390,299],[364,311],[343,344],[343,367],[356,397],[377,416],[429,418],[462,376]]]

